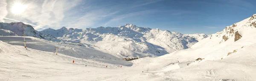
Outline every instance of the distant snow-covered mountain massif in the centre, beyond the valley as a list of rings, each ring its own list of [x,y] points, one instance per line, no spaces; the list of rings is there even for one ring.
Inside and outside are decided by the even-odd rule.
[[[138,27],[133,24],[86,29],[49,28],[41,33],[55,36],[63,42],[83,43],[119,57],[161,56],[187,49],[198,42],[188,35]],[[201,36],[204,38],[203,35]]]

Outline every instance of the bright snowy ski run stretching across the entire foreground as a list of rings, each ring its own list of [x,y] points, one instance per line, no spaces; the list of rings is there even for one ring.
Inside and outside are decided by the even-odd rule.
[[[254,37],[255,38],[255,37]],[[255,40],[254,40],[255,41]],[[248,41],[250,42],[250,41]],[[1,81],[254,81],[256,43],[222,60],[186,61],[164,55],[117,67],[0,42]],[[189,50],[189,49],[188,49]],[[193,49],[190,49],[193,50]],[[72,61],[75,63],[72,63]],[[189,65],[187,65],[190,63]],[[87,65],[87,67],[85,67]],[[108,65],[108,68],[105,66]],[[142,72],[143,71],[143,72]]]

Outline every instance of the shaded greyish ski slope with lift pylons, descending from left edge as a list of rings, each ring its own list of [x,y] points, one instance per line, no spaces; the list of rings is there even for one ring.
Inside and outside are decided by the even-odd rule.
[[[9,44],[12,44],[12,45],[24,46],[23,37],[2,36],[0,37],[0,40],[6,43],[10,41]],[[58,47],[58,54],[61,53],[64,55],[75,57],[75,58],[90,59],[94,61],[101,61],[104,63],[120,64],[120,65],[122,64],[124,66],[132,65],[131,62],[122,61],[122,59],[117,58],[116,56],[113,56],[108,53],[101,52],[95,49],[91,49],[89,47],[77,46],[77,45],[65,44],[65,43],[60,44],[58,42],[43,40],[40,38],[26,37],[26,47],[41,50],[44,52],[49,52],[52,54],[54,52],[56,54],[55,47]]]

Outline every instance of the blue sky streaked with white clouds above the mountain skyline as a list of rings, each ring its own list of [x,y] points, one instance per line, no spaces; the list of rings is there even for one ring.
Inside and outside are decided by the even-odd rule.
[[[255,0],[7,0],[0,3],[3,5],[1,22],[22,21],[39,31],[43,30],[41,27],[84,29],[132,23],[183,34],[213,34],[256,14]],[[26,6],[24,12],[12,13],[15,3]]]

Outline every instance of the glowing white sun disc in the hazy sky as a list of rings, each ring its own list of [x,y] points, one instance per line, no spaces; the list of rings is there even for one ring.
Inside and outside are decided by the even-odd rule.
[[[12,13],[19,15],[22,14],[26,10],[27,6],[21,3],[15,3],[12,6]]]

